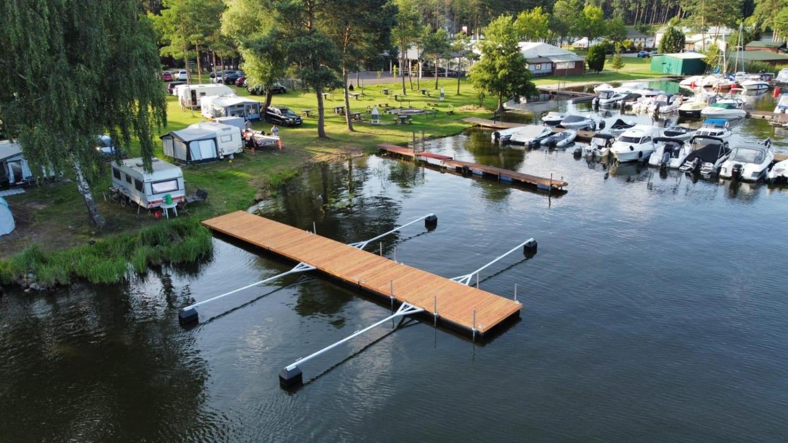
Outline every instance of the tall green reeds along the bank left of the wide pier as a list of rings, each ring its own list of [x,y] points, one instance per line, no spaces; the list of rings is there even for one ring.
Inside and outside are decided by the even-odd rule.
[[[162,221],[136,233],[107,236],[62,251],[31,244],[12,259],[0,261],[0,285],[45,291],[74,281],[108,285],[144,274],[149,266],[194,262],[210,256],[210,230],[196,219]]]

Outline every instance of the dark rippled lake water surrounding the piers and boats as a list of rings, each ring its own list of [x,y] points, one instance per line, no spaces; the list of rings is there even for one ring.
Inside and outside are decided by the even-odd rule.
[[[771,131],[745,121],[735,137]],[[786,188],[500,148],[480,130],[428,147],[554,173],[569,192],[370,157],[309,169],[258,213],[352,242],[434,212],[436,230],[412,225],[384,254],[445,277],[533,236],[536,256],[481,275],[501,296],[519,285],[522,318],[504,333],[474,345],[382,326],[284,391],[282,367],[389,311],[303,274],[207,304],[182,329],[191,300],[291,266],[217,239],[210,261],[127,285],[0,298],[0,441],[788,438]]]

